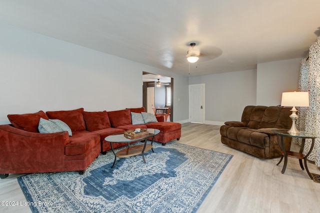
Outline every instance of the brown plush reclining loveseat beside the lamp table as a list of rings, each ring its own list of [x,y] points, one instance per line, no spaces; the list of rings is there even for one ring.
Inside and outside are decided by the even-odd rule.
[[[220,127],[221,142],[234,149],[258,158],[281,156],[277,136],[272,129],[289,129],[290,108],[278,106],[246,106],[241,122],[227,121]],[[291,146],[291,138],[284,137],[285,150]]]

